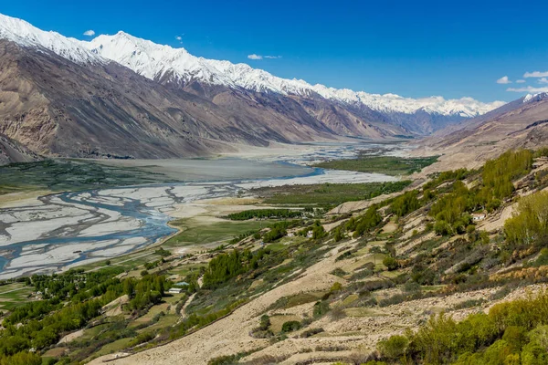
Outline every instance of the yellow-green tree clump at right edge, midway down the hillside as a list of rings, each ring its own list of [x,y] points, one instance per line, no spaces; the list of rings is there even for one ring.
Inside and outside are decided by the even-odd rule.
[[[544,244],[548,237],[548,192],[523,197],[516,214],[504,223],[504,233],[512,249]]]

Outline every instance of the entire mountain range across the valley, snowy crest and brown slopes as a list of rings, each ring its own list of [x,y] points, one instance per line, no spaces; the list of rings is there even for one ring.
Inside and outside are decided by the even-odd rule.
[[[171,158],[416,138],[499,108],[332,89],[124,32],[86,42],[0,15],[0,137],[42,155]]]

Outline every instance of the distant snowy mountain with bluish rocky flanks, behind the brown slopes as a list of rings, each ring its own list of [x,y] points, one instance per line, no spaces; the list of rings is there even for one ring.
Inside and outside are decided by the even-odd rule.
[[[278,78],[246,64],[195,57],[184,48],[157,45],[124,32],[114,36],[98,36],[82,44],[101,57],[114,60],[146,78],[174,89],[190,89],[201,96],[214,98],[216,92],[207,92],[205,89],[222,86],[231,89],[233,96],[242,90],[258,93],[261,98],[277,94],[298,100],[305,108],[310,105],[310,100],[321,99],[323,104],[331,107],[332,112],[343,110],[359,121],[391,124],[411,134],[427,134],[448,123],[478,116],[504,104],[501,101],[485,104],[471,98],[410,99],[395,94],[368,94],[311,85],[301,79]],[[196,83],[199,86],[196,87]],[[321,107],[318,111],[316,106],[314,115],[321,117],[325,109]],[[364,130],[354,130],[352,123],[344,117],[340,117],[344,127],[337,132],[364,135],[361,134]],[[329,120],[322,121],[329,123]],[[365,136],[369,137],[368,133]]]

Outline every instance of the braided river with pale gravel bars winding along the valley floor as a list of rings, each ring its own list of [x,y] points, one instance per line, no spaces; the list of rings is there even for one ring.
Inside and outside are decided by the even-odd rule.
[[[0,209],[0,279],[57,272],[152,245],[175,232],[168,222],[177,204],[236,196],[260,186],[395,180],[303,166],[326,156],[354,154],[355,146],[343,145],[253,161],[148,161],[141,166],[153,165],[155,172],[174,173],[184,182],[58,193]]]

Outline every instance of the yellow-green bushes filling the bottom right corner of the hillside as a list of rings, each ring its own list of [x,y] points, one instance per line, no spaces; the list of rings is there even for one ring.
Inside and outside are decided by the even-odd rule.
[[[456,322],[447,315],[430,318],[418,331],[379,343],[382,360],[419,364],[548,363],[548,293],[501,303],[489,314]]]

